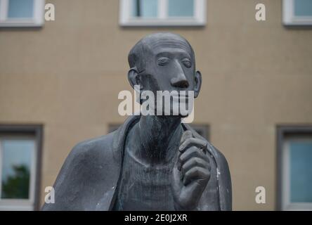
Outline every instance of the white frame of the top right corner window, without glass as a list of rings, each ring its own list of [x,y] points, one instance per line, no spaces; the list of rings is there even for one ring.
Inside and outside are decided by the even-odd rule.
[[[284,25],[312,25],[312,16],[294,15],[294,0],[283,0],[282,23]]]

